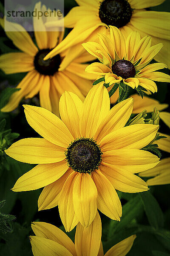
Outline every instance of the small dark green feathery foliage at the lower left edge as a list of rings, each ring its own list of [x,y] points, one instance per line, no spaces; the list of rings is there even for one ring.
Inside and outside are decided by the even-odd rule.
[[[16,217],[13,215],[1,212],[3,210],[3,206],[5,202],[6,202],[5,200],[0,201],[0,233],[3,233],[3,234],[12,232],[12,229],[9,226],[9,224],[11,221],[14,221],[16,219]]]

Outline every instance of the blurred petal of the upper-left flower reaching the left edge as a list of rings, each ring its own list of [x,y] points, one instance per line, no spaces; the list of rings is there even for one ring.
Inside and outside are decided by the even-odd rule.
[[[34,59],[23,52],[10,52],[0,55],[0,68],[6,74],[34,70]]]

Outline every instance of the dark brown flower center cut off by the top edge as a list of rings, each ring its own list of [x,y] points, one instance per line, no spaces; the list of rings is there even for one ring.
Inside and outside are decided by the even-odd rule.
[[[99,8],[99,17],[108,26],[121,28],[130,21],[131,16],[132,8],[127,0],[104,0]]]

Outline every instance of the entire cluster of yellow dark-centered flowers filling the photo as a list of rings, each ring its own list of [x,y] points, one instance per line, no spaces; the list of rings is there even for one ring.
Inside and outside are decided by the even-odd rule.
[[[64,39],[64,32],[57,32],[58,20],[34,20],[37,45],[24,29],[6,32],[22,52],[1,55],[0,68],[6,74],[28,73],[1,111],[13,111],[23,97],[37,93],[41,106],[24,105],[28,124],[41,138],[19,140],[6,150],[15,160],[38,164],[12,190],[44,187],[39,210],[58,205],[65,230],[77,226],[74,244],[59,228],[34,222],[34,256],[103,256],[97,209],[120,221],[116,190],[144,192],[148,185],[170,182],[170,158],[159,161],[146,150],[156,140],[159,148],[170,152],[170,137],[158,134],[159,117],[170,127],[170,114],[162,111],[167,104],[148,97],[157,92],[155,81],[170,82],[170,76],[156,71],[170,67],[170,26],[164,27],[170,14],[145,10],[162,2],[77,0],[79,6],[64,18],[65,27],[73,28]],[[46,7],[39,2],[35,8]],[[0,24],[4,26],[4,19]],[[37,31],[41,26],[56,31]],[[150,64],[153,58],[166,64]],[[93,63],[83,64],[89,61]],[[140,95],[129,97],[129,90]],[[148,121],[146,111],[154,107]],[[132,118],[134,114],[138,115]],[[154,177],[144,182],[139,176]],[[114,245],[105,256],[125,256],[135,237]]]

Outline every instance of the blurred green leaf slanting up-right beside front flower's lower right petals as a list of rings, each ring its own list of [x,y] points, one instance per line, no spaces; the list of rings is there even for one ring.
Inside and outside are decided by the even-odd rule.
[[[127,227],[130,222],[135,219],[138,215],[143,212],[142,202],[139,200],[139,196],[130,199],[122,207],[122,217],[121,221],[110,221],[110,226],[108,230],[108,239],[113,236],[118,230],[122,230]]]

